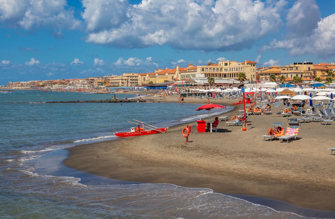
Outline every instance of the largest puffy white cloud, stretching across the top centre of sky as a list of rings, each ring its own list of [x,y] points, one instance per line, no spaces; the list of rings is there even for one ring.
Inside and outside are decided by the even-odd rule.
[[[115,47],[240,50],[283,25],[286,1],[83,0],[86,41]],[[178,6],[178,7],[177,7]]]

